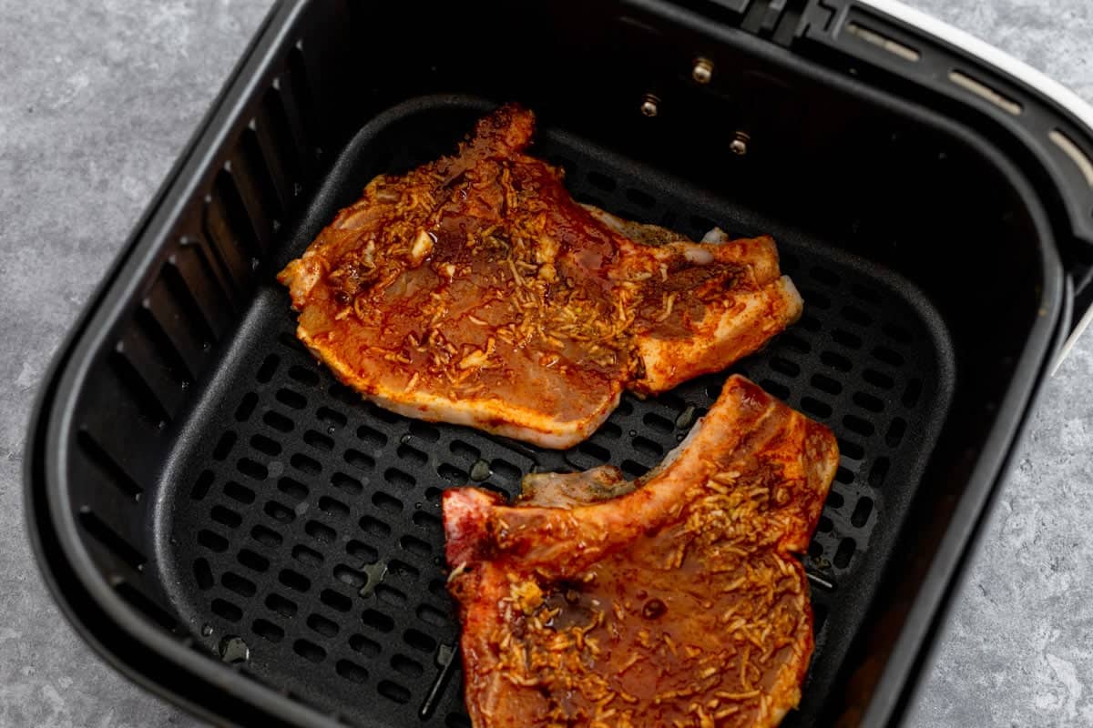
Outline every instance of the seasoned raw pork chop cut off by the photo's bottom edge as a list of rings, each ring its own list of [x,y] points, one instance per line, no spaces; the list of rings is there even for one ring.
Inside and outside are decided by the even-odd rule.
[[[812,654],[831,431],[740,377],[655,472],[444,493],[475,728],[775,726]]]

